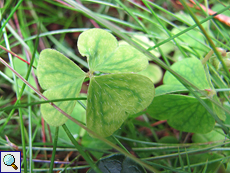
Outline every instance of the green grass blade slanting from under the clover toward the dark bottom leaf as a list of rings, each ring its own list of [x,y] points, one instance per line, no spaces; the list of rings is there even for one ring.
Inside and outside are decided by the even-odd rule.
[[[79,145],[78,142],[74,139],[73,135],[70,133],[67,126],[65,124],[63,124],[62,127],[65,130],[66,134],[68,135],[69,139],[72,141],[72,143],[77,148],[77,150],[82,155],[82,157],[84,157],[84,159],[87,161],[87,163],[91,166],[91,168],[94,169],[97,173],[102,173],[101,170],[95,165],[92,158],[90,158],[89,155],[86,154],[86,152],[83,150],[81,145]]]

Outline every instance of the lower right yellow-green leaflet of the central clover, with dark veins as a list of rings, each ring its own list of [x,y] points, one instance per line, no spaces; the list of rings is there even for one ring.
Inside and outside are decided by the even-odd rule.
[[[87,127],[110,136],[130,114],[145,109],[153,100],[154,85],[145,76],[131,73],[92,77],[88,89]]]

